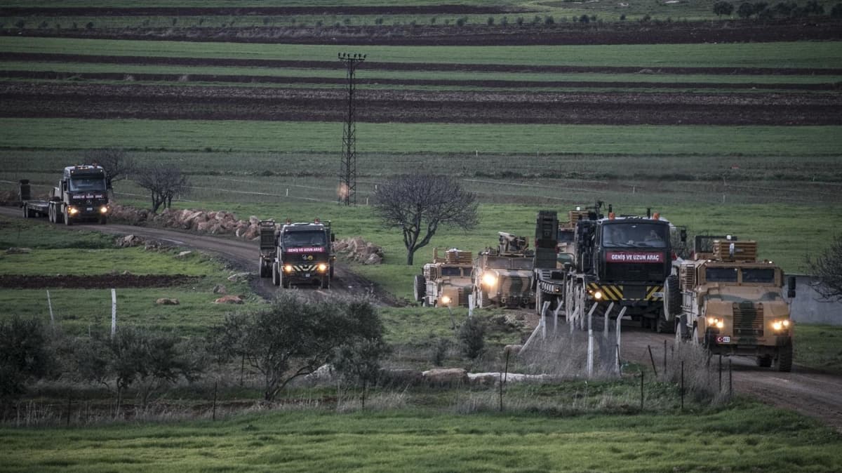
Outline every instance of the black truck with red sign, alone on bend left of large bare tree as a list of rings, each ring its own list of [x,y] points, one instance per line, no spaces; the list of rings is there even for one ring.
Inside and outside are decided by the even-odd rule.
[[[272,278],[272,284],[318,284],[330,288],[336,255],[335,237],[330,221],[292,223],[278,226],[274,221],[260,221],[260,257],[258,274]]]

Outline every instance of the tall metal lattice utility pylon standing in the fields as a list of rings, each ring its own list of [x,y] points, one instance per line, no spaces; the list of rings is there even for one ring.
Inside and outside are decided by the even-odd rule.
[[[348,70],[348,109],[345,114],[345,127],[342,132],[342,161],[339,164],[339,204],[357,205],[357,145],[356,145],[356,84],[354,72],[360,62],[365,61],[365,54],[340,52],[342,61]]]

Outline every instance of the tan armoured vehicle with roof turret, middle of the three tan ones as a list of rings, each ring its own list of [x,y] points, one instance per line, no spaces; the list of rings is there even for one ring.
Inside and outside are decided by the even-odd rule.
[[[527,307],[535,304],[529,242],[498,232],[497,248],[480,252],[473,263],[473,294],[477,307]]]

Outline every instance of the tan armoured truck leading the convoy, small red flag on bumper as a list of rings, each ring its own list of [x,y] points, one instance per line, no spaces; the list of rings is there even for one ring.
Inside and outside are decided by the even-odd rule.
[[[775,263],[757,260],[757,242],[735,237],[695,238],[695,259],[676,264],[673,305],[676,339],[690,340],[711,354],[744,355],[762,367],[792,369],[790,304],[795,277]],[[671,289],[671,288],[670,288]]]

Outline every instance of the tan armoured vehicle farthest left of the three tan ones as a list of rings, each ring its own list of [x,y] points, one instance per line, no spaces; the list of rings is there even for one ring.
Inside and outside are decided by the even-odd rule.
[[[433,248],[433,263],[424,264],[422,274],[413,280],[415,300],[424,306],[468,306],[473,282],[471,252],[451,248],[443,257]]]

